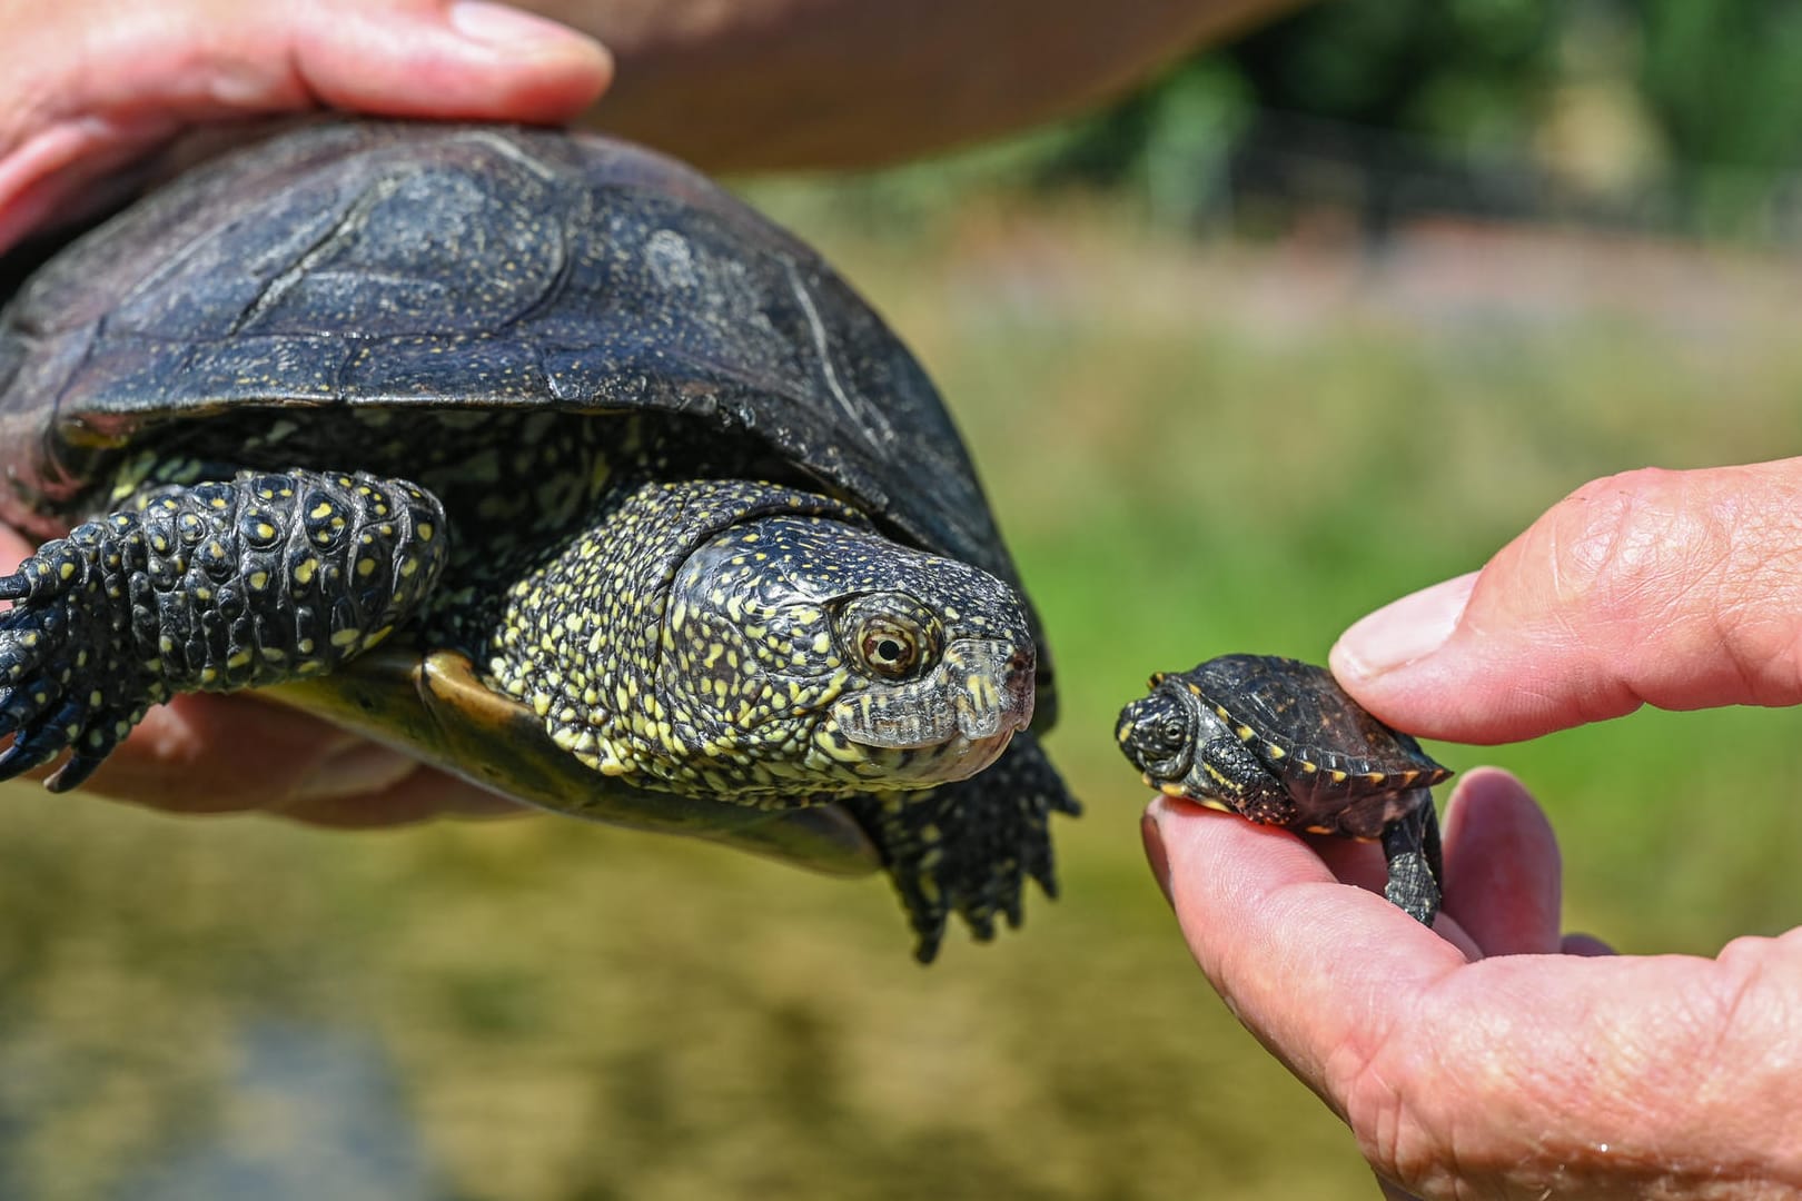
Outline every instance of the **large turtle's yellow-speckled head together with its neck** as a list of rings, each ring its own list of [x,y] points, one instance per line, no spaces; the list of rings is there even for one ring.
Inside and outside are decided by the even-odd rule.
[[[1007,585],[771,484],[647,484],[508,603],[496,681],[647,787],[753,805],[921,789],[1033,717]]]

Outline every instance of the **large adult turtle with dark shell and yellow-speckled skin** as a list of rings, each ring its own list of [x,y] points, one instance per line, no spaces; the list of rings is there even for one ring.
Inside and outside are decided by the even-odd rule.
[[[0,578],[0,778],[272,688],[537,805],[879,862],[923,960],[1052,891],[1049,655],[937,393],[645,149],[328,124],[153,193],[0,313],[0,519],[50,538]]]

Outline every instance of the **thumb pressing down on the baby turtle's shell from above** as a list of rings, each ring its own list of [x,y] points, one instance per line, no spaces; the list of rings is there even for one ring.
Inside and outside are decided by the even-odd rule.
[[[1586,484],[1373,612],[1333,673],[1411,733],[1512,742],[1642,704],[1802,700],[1802,459]]]

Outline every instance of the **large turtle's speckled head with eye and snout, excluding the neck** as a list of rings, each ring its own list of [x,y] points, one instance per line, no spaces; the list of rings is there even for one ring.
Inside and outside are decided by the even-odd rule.
[[[748,520],[676,573],[658,690],[741,790],[962,780],[1033,720],[1020,596],[818,515]]]

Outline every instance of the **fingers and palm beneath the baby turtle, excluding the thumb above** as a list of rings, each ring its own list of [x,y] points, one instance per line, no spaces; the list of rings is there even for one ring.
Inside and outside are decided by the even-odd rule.
[[[1433,931],[1370,844],[1160,798],[1146,850],[1215,989],[1388,1196],[1802,1188],[1802,933],[1714,960],[1561,935],[1557,843],[1512,776],[1454,790]]]

